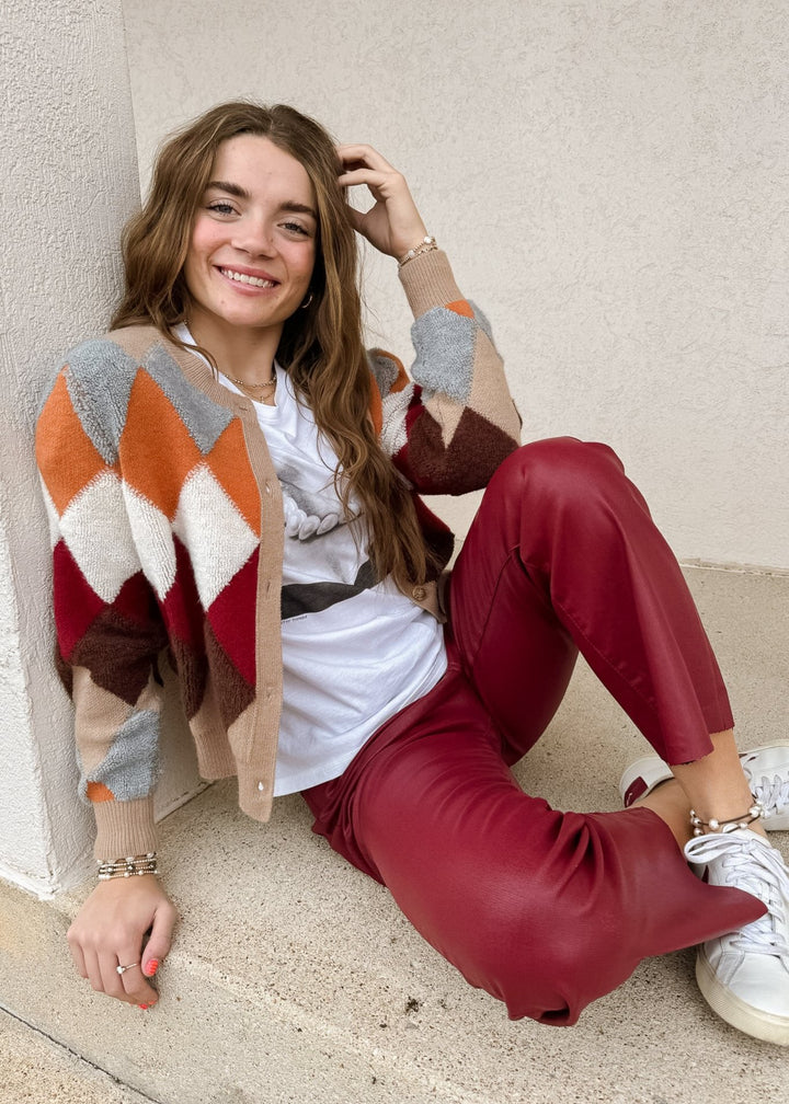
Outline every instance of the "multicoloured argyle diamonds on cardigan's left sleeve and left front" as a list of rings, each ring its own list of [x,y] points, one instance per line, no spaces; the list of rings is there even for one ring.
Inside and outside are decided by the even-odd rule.
[[[73,668],[87,672],[94,710],[83,793],[145,796],[159,728],[151,672],[165,645],[189,719],[209,672],[220,676],[225,725],[254,697],[260,496],[241,424],[189,388],[160,346],[137,364],[113,341],[92,341],[55,381],[38,452],[59,669],[69,683]]]

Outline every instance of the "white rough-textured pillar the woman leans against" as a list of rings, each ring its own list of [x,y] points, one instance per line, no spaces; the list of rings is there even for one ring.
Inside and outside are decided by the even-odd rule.
[[[80,869],[92,818],[52,665],[32,434],[65,350],[106,323],[138,188],[119,2],[6,0],[0,20],[0,874],[46,892]]]

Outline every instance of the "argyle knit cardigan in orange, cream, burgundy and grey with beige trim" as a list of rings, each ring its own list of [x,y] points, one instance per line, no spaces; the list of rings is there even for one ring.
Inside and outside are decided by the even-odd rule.
[[[414,498],[477,489],[519,434],[499,357],[442,253],[409,262],[401,280],[415,317],[412,379],[390,354],[368,354],[374,424]],[[155,848],[165,649],[201,775],[238,775],[241,808],[265,820],[282,705],[284,516],[252,403],[154,327],[128,327],[71,352],[42,407],[36,457],[55,657],[75,705],[96,856]],[[451,533],[415,501],[445,563]],[[411,597],[439,615],[434,582]]]

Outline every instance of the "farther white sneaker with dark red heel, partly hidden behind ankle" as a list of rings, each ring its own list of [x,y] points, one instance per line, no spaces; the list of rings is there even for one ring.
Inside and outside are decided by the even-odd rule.
[[[740,752],[739,761],[751,794],[765,810],[762,827],[768,831],[789,829],[789,740]],[[669,778],[673,778],[671,767],[658,755],[645,755],[631,763],[619,783],[624,807],[629,808]]]

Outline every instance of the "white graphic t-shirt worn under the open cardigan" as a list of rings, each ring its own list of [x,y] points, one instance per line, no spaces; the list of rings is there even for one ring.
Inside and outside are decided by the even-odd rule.
[[[446,654],[434,617],[391,580],[375,583],[364,518],[347,519],[335,490],[336,454],[275,368],[276,405],[254,406],[285,508],[278,796],[341,774],[376,729],[435,686]]]

